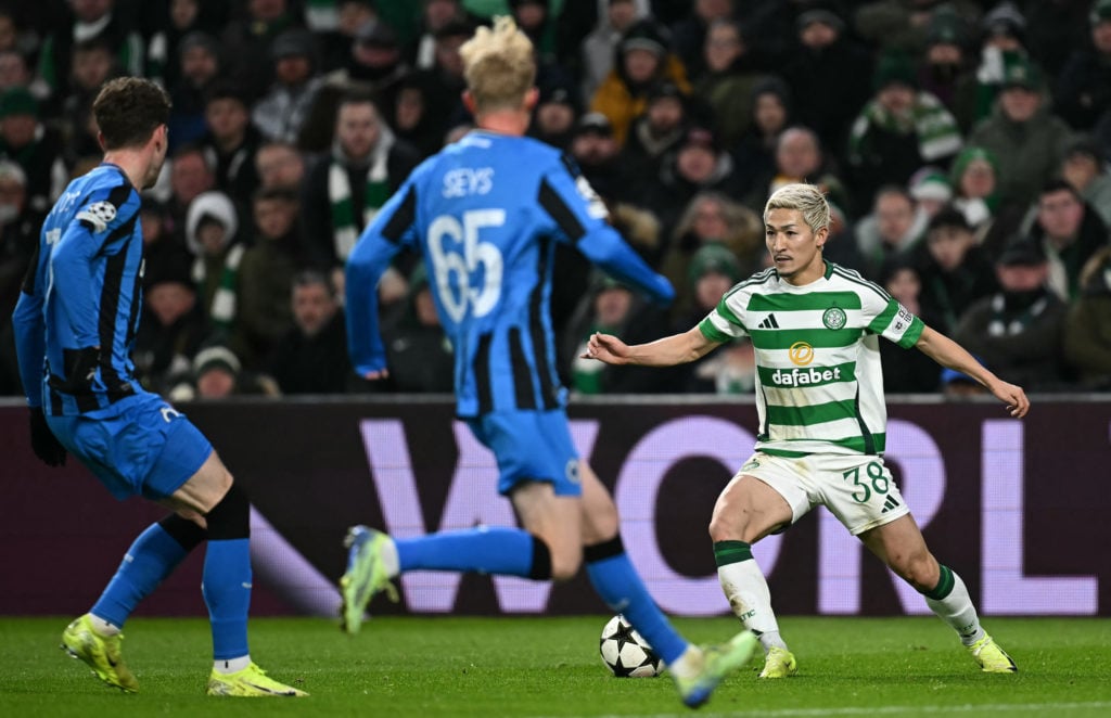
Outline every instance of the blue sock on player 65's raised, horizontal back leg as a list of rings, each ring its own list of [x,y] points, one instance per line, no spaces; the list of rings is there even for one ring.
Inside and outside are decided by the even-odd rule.
[[[532,577],[534,542],[528,531],[498,526],[394,539],[401,572],[478,571],[524,578]],[[548,570],[549,576],[540,578],[550,578]]]

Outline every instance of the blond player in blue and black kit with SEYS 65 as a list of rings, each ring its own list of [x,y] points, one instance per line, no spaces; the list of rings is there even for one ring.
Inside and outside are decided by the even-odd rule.
[[[457,413],[498,460],[498,490],[522,528],[481,527],[393,539],[359,526],[340,579],[343,627],[358,630],[370,598],[413,570],[482,571],[565,580],[580,566],[599,596],[643,635],[684,704],[703,704],[747,662],[755,637],[697,647],[668,622],[629,561],[609,492],[572,445],[551,319],[554,242],[652,299],[673,290],[605,223],[605,208],[559,151],[522,137],[537,102],[532,46],[508,18],[461,49],[464,101],[478,128],[426,161],[363,231],[347,269],[351,357],[384,377],[376,287],[402,249],[429,267],[437,310],[456,351]]]

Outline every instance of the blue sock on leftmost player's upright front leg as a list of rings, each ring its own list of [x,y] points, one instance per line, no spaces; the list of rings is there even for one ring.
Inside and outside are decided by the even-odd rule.
[[[212,658],[246,656],[251,606],[250,539],[209,540],[201,588],[212,625]]]

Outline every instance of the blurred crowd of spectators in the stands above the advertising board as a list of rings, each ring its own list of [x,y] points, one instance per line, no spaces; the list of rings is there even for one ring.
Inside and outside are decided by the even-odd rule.
[[[573,391],[751,391],[743,341],[668,371],[578,356],[594,331],[694,326],[764,266],[763,203],[797,181],[834,208],[828,259],[1002,379],[1111,390],[1111,0],[39,0],[0,2],[0,393],[22,393],[10,310],[43,216],[99,161],[90,108],[120,74],[173,100],[141,217],[148,388],[449,392],[419,258],[378,289],[378,382],[347,356],[343,265],[470,128],[459,47],[504,13],[539,53],[530,134],[574,159],[678,293],[651,305],[559,246]],[[974,389],[881,345],[888,391]]]

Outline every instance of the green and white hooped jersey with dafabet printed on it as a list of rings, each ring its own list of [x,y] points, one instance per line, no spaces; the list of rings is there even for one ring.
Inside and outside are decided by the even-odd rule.
[[[904,349],[925,325],[878,285],[825,262],[805,287],[765,269],[699,325],[712,341],[748,336],[757,359],[757,450],[775,456],[883,452],[888,411],[879,337]]]

